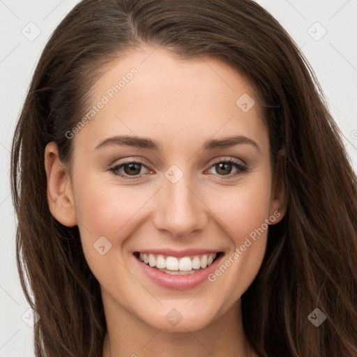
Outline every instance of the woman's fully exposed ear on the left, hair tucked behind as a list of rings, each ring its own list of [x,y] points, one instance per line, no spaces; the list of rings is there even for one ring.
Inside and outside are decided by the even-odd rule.
[[[77,225],[70,175],[66,165],[59,160],[59,150],[55,142],[48,143],[45,148],[45,170],[50,212],[62,225]]]

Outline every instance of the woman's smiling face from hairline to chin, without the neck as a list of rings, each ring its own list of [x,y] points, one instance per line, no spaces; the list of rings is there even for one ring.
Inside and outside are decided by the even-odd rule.
[[[240,302],[268,219],[284,214],[255,93],[217,59],[146,47],[112,63],[91,94],[91,119],[68,134],[70,174],[50,179],[47,160],[62,200],[49,199],[52,214],[78,225],[105,306],[168,331],[208,326]]]

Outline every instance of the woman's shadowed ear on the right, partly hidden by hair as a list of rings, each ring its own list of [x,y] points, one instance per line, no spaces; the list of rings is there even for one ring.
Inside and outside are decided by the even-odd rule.
[[[276,218],[274,222],[271,222],[271,225],[280,222],[282,218],[284,218],[285,213],[287,213],[287,187],[283,178],[284,160],[285,149],[281,149],[276,160],[271,188],[271,206],[269,211],[270,215],[273,215]]]

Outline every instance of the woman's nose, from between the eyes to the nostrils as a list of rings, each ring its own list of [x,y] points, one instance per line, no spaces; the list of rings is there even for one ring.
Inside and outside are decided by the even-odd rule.
[[[165,180],[155,206],[155,227],[160,231],[169,231],[175,238],[197,233],[208,222],[208,208],[188,176],[183,175],[176,183]]]

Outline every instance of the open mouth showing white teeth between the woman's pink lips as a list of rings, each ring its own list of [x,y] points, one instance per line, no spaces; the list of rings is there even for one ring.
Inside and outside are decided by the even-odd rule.
[[[178,258],[144,252],[134,253],[135,257],[147,266],[171,275],[188,275],[204,271],[222,254],[222,252],[217,252]]]

